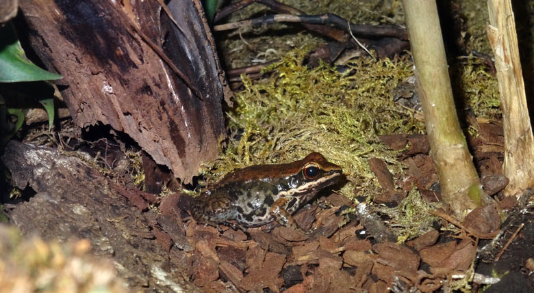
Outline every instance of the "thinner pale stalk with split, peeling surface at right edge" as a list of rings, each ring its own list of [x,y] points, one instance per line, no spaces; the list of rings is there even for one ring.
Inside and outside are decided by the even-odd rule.
[[[495,67],[503,109],[505,163],[510,180],[507,196],[520,196],[534,186],[534,139],[518,51],[516,20],[510,0],[488,0],[487,38],[495,55]]]

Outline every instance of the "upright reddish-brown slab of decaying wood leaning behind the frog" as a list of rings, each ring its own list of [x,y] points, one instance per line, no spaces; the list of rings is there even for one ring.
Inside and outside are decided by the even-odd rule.
[[[230,92],[200,1],[167,5],[177,25],[156,0],[20,3],[77,126],[109,124],[190,182],[225,137]]]

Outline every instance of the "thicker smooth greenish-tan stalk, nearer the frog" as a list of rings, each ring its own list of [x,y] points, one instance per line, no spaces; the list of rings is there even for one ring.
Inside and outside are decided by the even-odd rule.
[[[435,1],[404,0],[416,66],[418,91],[443,201],[463,221],[474,208],[490,204],[458,122]]]

